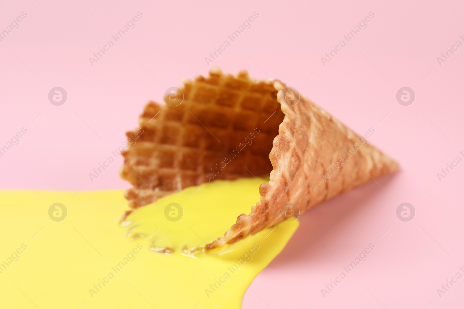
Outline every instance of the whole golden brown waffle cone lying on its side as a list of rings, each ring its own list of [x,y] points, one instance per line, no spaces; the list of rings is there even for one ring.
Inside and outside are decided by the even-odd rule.
[[[184,82],[180,105],[149,102],[139,120],[143,132],[122,152],[121,177],[134,185],[125,194],[129,206],[208,180],[270,173],[251,214],[240,214],[209,250],[283,221],[288,202],[303,212],[398,168],[303,96],[295,105],[296,97],[285,101],[285,87],[245,70],[231,76],[213,68],[207,78]]]

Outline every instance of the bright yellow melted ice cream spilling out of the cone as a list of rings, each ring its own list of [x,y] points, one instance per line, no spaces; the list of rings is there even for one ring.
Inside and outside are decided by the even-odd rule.
[[[186,255],[182,247],[210,243],[238,214],[249,214],[265,181],[186,188],[135,210],[122,225],[122,190],[0,191],[2,307],[240,308],[248,285],[298,222],[284,221],[214,252]],[[65,213],[49,209],[56,202],[67,210],[63,221],[51,219]],[[176,205],[183,210],[178,221]]]

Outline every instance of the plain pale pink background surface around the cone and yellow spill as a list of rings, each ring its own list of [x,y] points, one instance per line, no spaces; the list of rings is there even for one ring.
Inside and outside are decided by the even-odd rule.
[[[437,293],[456,272],[464,275],[464,164],[442,182],[437,177],[464,151],[464,47],[442,66],[437,61],[464,43],[461,3],[35,1],[0,10],[0,30],[27,13],[0,42],[0,147],[27,129],[0,158],[1,189],[128,188],[118,176],[122,158],[93,183],[88,174],[122,145],[147,101],[161,101],[182,77],[205,76],[213,65],[232,74],[248,69],[298,89],[359,134],[373,127],[369,142],[401,170],[303,214],[243,308],[463,307],[464,278]],[[139,11],[135,29],[92,67],[89,57]],[[251,29],[208,67],[204,58],[253,12]],[[367,29],[323,66],[321,57],[369,12]],[[48,101],[56,86],[68,94],[62,106]],[[416,94],[410,106],[395,98],[404,86]],[[416,209],[412,221],[396,216],[403,202]],[[370,243],[367,261],[324,298],[325,284]]]

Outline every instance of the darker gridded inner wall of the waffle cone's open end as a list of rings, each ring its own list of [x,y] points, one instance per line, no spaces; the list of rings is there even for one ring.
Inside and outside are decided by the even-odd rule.
[[[284,113],[273,82],[213,69],[179,88],[176,104],[149,102],[140,128],[128,132],[135,145],[123,151],[122,178],[134,185],[126,192],[137,208],[186,187],[218,179],[269,177],[269,154]],[[258,201],[257,201],[258,202]]]

